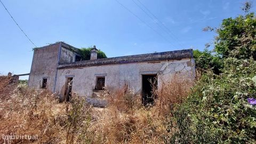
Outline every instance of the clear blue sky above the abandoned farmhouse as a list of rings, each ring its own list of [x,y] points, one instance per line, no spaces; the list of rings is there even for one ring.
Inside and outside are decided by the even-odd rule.
[[[205,43],[213,42],[216,34],[202,29],[218,27],[222,19],[243,13],[240,7],[244,2],[139,0],[158,21],[134,3],[140,5],[138,0],[118,0],[145,24],[116,0],[1,1],[38,47],[57,41],[78,48],[96,45],[107,57],[188,48],[203,50]],[[255,11],[255,6],[251,11]],[[0,15],[0,74],[29,73],[34,46],[2,5]],[[159,27],[160,22],[170,31]],[[21,77],[24,78],[27,77]]]

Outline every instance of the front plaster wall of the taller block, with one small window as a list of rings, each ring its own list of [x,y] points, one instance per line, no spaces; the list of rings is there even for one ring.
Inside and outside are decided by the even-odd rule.
[[[52,44],[34,49],[34,57],[28,82],[29,87],[42,85],[43,77],[47,77],[46,89],[54,91],[59,49],[60,44]]]

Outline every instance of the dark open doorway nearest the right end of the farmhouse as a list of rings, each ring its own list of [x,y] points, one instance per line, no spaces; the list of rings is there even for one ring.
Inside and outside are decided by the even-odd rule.
[[[157,88],[157,75],[142,75],[142,103],[144,106],[153,105],[156,95],[153,88]]]

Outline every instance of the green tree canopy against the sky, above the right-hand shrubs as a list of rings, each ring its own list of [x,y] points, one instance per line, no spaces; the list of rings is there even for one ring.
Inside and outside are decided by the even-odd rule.
[[[198,69],[211,69],[214,74],[221,73],[223,59],[237,58],[256,60],[256,18],[250,12],[251,4],[246,2],[242,10],[245,15],[223,19],[219,28],[207,26],[204,31],[215,31],[214,49],[195,50],[194,58]]]

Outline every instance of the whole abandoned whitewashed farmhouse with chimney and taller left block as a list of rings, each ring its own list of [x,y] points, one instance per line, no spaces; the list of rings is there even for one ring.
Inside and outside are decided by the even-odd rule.
[[[55,92],[61,101],[68,100],[74,93],[93,99],[93,95],[105,87],[128,86],[136,93],[150,95],[149,79],[157,79],[159,87],[161,81],[176,73],[193,77],[193,50],[97,59],[94,46],[91,59],[81,61],[76,47],[58,42],[34,49],[28,86]]]

